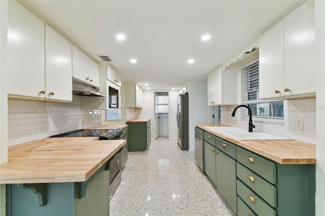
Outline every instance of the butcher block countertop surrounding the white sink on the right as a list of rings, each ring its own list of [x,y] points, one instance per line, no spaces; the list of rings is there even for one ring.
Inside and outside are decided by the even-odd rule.
[[[228,125],[196,124],[197,127],[280,164],[315,164],[316,146],[297,140],[238,140],[207,127]]]

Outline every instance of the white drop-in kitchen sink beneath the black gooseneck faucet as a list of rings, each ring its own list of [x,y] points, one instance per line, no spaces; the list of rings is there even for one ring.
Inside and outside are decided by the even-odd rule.
[[[262,132],[248,132],[248,129],[239,127],[208,127],[211,130],[222,133],[239,140],[290,140],[290,138]]]

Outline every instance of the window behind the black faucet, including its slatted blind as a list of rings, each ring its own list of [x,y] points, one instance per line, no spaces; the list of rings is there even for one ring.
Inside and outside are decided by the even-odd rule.
[[[283,101],[259,100],[258,58],[242,66],[243,103],[252,110],[252,116],[283,118]]]

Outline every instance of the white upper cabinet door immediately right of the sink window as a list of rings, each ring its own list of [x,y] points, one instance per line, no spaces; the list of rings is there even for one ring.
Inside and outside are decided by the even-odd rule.
[[[259,38],[259,98],[283,96],[283,20],[280,20]]]

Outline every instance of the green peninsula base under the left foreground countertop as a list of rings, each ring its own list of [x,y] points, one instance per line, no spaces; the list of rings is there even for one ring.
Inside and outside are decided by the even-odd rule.
[[[73,182],[44,184],[46,184],[46,191],[42,194],[46,197],[44,206],[40,205],[40,196],[34,189],[23,189],[17,184],[7,185],[6,215],[109,215],[109,170],[103,168],[94,173],[91,181],[81,190],[80,184]],[[29,184],[25,185],[28,186]],[[85,193],[85,196],[79,199],[78,197],[82,193]]]

